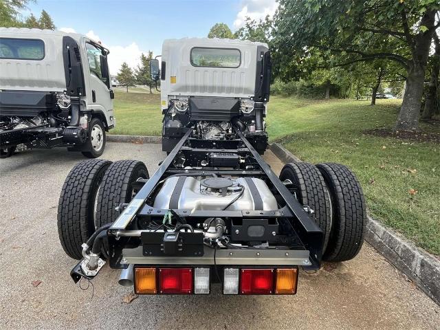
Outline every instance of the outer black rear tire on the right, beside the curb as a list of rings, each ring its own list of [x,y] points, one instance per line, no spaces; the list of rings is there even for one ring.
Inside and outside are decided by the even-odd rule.
[[[358,178],[341,164],[316,165],[329,188],[333,221],[325,261],[348,261],[359,253],[364,242],[366,206]]]

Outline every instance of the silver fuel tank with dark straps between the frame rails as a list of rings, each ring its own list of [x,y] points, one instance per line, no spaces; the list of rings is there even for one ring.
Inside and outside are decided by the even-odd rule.
[[[224,178],[221,178],[222,180]],[[276,199],[265,181],[254,177],[224,179],[228,190],[223,195],[221,189],[226,181],[203,181],[194,177],[170,177],[159,190],[154,201],[155,208],[190,210],[277,210]],[[229,183],[232,185],[229,186]],[[207,187],[209,186],[209,187]],[[240,196],[241,195],[241,196]],[[239,197],[238,199],[236,199]],[[236,199],[236,201],[234,201]],[[231,203],[234,201],[233,203]],[[229,205],[230,204],[230,205]]]

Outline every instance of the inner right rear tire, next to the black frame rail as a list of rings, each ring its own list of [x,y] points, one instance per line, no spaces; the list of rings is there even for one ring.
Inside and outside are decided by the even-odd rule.
[[[323,250],[327,247],[331,228],[331,204],[324,178],[316,166],[296,162],[285,164],[280,174],[281,181],[289,179],[296,188],[296,198],[314,213],[310,217],[324,232]]]

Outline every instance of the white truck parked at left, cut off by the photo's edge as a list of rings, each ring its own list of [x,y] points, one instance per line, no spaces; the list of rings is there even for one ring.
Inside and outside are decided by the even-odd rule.
[[[0,28],[0,148],[67,146],[102,155],[115,126],[109,50],[87,36]]]

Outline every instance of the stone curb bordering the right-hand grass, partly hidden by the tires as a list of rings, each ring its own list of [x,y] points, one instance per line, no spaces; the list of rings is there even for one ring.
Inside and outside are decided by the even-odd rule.
[[[283,162],[300,162],[278,143],[272,143],[270,150]],[[440,261],[370,216],[367,219],[365,241],[440,305]]]

